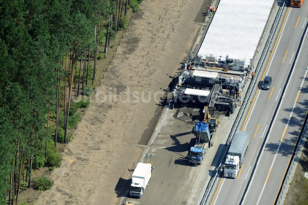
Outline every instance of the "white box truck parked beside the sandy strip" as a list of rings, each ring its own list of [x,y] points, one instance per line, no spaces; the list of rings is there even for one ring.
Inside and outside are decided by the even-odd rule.
[[[132,175],[129,195],[140,198],[151,179],[151,163],[138,163]]]

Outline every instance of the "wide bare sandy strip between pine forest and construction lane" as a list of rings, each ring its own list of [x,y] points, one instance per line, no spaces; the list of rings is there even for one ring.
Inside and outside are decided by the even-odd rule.
[[[62,166],[51,174],[55,185],[35,204],[115,204],[125,195],[162,111],[159,101],[201,30],[196,16],[203,2],[141,4]]]

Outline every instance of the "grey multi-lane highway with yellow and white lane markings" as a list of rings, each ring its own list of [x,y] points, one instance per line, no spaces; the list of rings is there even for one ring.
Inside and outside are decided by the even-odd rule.
[[[257,79],[272,76],[273,84],[269,90],[256,87],[241,124],[241,130],[250,132],[250,143],[239,176],[220,178],[209,204],[275,202],[308,111],[308,37],[301,42],[307,16],[307,4],[286,9],[268,63]]]

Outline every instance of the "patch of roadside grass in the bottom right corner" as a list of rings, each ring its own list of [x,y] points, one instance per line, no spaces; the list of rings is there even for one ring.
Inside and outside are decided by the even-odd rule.
[[[307,141],[286,194],[284,205],[308,205],[308,179],[304,177],[306,171],[308,171]]]

